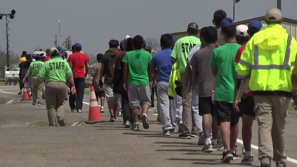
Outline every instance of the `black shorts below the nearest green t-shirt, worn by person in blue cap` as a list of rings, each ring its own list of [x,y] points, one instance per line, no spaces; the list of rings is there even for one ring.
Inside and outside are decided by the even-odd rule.
[[[234,126],[239,121],[239,113],[233,110],[233,103],[215,101],[216,121],[218,125],[222,122],[230,122]]]

